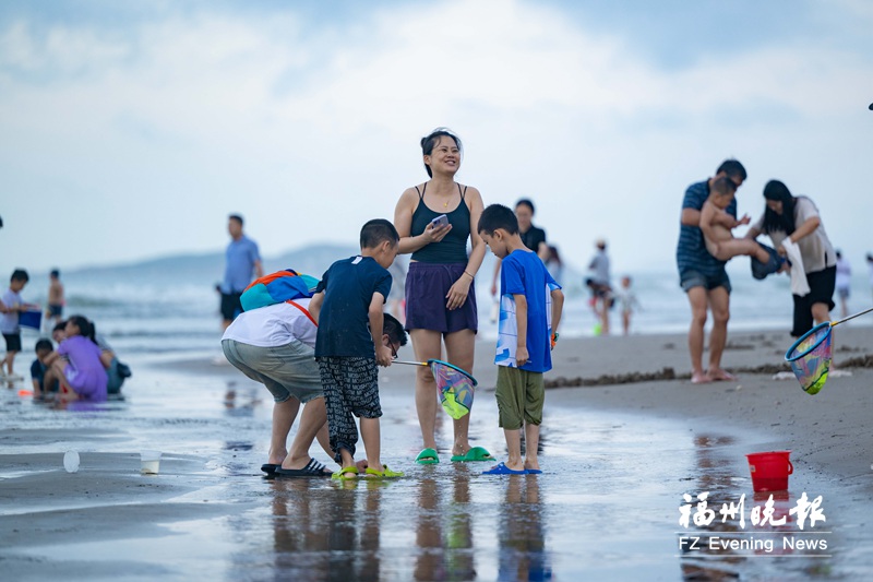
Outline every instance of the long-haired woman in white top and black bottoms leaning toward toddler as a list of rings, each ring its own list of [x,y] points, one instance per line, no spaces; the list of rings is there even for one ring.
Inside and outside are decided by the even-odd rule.
[[[837,253],[827,238],[818,209],[806,197],[794,197],[779,180],[770,180],[764,187],[767,207],[745,235],[756,238],[765,234],[773,247],[785,256],[782,242],[789,239],[798,246],[803,261],[803,271],[810,285],[804,296],[794,299],[794,325],[791,335],[799,337],[810,331],[814,323],[830,320],[834,309],[834,287],[837,277]]]

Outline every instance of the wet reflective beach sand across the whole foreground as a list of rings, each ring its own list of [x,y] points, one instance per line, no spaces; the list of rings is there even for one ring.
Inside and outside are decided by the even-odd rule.
[[[873,328],[837,331],[838,364],[870,360]],[[793,379],[772,379],[790,343],[778,332],[731,334],[723,366],[738,381],[692,385],[684,336],[562,338],[547,379],[578,387],[547,393],[537,477],[449,463],[445,419],[443,462],[415,465],[411,367],[381,375],[383,459],[407,475],[382,483],[262,478],[268,394],[216,365],[217,351],[128,358],[127,401],[93,412],[48,409],[20,397],[21,387],[4,389],[0,567],[10,580],[853,578],[873,567],[873,370],[846,368],[850,377],[810,396]],[[471,439],[501,458],[491,351],[477,344]],[[75,474],[62,466],[69,449],[81,455]],[[140,475],[143,449],[163,451],[159,475]],[[678,522],[683,494],[709,491],[716,509],[745,495],[746,514],[763,504],[744,454],[782,449],[794,474],[775,495],[777,513],[804,491],[822,496],[827,521],[815,531],[826,532],[826,553],[680,547],[689,532],[793,535],[796,520],[754,532]]]

